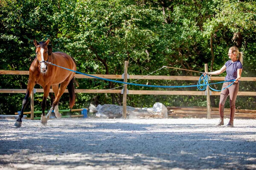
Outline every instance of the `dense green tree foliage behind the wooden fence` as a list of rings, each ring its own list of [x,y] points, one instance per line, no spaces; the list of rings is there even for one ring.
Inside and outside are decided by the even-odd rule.
[[[146,75],[163,65],[204,71],[204,63],[208,63],[211,69],[217,70],[228,60],[228,48],[237,43],[236,36],[240,35],[240,50],[245,56],[242,76],[255,76],[255,9],[253,1],[227,0],[2,0],[0,69],[28,70],[35,58],[33,39],[45,41],[50,38],[54,51],[63,51],[74,57],[77,70],[88,74],[122,74],[125,60],[129,61],[130,75]],[[174,69],[162,69],[155,75],[199,76]],[[27,76],[1,77],[0,88],[26,88]],[[84,89],[120,86],[97,79],[79,79],[78,82],[79,88]],[[157,80],[141,80],[139,83],[195,84]],[[253,91],[253,86],[252,82],[241,82],[240,91]],[[41,96],[35,94],[36,110],[40,110]],[[60,108],[67,108],[67,97],[67,94],[63,95]],[[18,111],[22,98],[22,94],[2,94],[0,112],[11,114]],[[255,106],[255,97],[247,98],[252,104],[239,102],[239,107]],[[206,106],[202,96],[128,95],[127,104],[148,107],[156,101],[167,106]],[[215,102],[218,102],[217,97],[212,98],[213,106]],[[90,103],[121,104],[122,96],[77,94],[77,108],[88,107]]]

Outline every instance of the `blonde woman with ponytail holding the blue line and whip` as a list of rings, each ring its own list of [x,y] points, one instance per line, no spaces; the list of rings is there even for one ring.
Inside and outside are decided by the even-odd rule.
[[[236,80],[234,84],[232,84],[230,87],[221,91],[219,102],[220,121],[217,124],[217,126],[224,125],[224,104],[227,100],[228,95],[230,95],[230,120],[226,127],[234,127],[233,121],[236,112],[236,98],[239,89],[239,80],[241,79],[241,73],[243,69],[243,53],[239,52],[237,47],[230,47],[228,51],[228,58],[231,60],[228,60],[220,70],[214,72],[205,72],[204,75],[206,75],[207,73],[212,75],[218,75],[226,70],[227,75],[225,77],[225,80]],[[231,83],[232,82],[223,83],[222,89],[227,87]]]

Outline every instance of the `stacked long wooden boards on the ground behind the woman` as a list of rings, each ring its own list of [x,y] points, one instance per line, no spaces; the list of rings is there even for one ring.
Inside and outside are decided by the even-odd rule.
[[[206,107],[167,107],[168,116],[171,118],[207,118]],[[224,118],[229,118],[230,109],[224,109]],[[219,108],[211,108],[211,118],[219,118]],[[256,119],[256,110],[236,109],[235,119]]]

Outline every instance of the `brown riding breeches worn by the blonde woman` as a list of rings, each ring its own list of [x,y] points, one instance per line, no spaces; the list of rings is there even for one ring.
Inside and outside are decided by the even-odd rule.
[[[222,85],[222,89],[230,85],[232,82],[225,82]],[[230,97],[230,120],[234,120],[234,115],[236,112],[236,98],[239,89],[239,82],[232,84],[230,87],[221,91],[220,102],[219,102],[219,113],[220,117],[224,117],[224,104],[229,95]]]

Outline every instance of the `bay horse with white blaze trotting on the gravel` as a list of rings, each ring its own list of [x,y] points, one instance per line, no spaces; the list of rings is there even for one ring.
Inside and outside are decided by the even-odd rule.
[[[75,103],[75,91],[74,91],[74,72],[53,66],[48,64],[51,62],[61,67],[65,67],[76,71],[76,63],[72,57],[66,53],[54,52],[52,53],[52,48],[49,45],[50,39],[46,42],[37,42],[34,40],[34,45],[36,48],[36,57],[31,63],[29,68],[29,79],[25,98],[22,102],[22,108],[19,114],[19,118],[15,122],[16,127],[21,127],[22,117],[24,109],[28,103],[29,96],[33,90],[35,84],[39,84],[44,89],[44,97],[41,103],[42,115],[41,124],[46,125],[47,120],[50,118],[51,112],[54,109],[57,118],[61,118],[59,113],[58,104],[59,99],[64,93],[66,87],[68,87],[69,92],[69,106],[72,108]],[[60,84],[60,86],[59,86]],[[50,111],[45,116],[46,99],[50,92],[50,87],[55,94],[55,99],[52,102]]]

